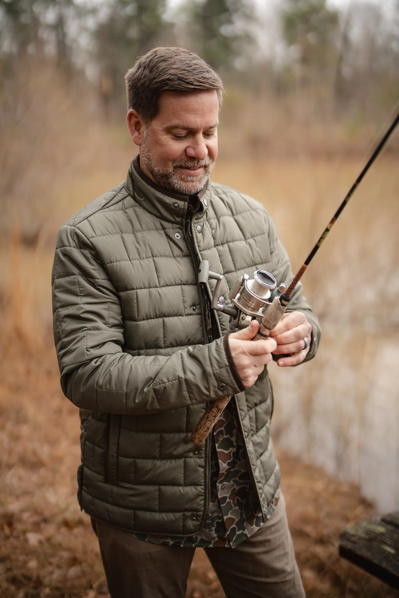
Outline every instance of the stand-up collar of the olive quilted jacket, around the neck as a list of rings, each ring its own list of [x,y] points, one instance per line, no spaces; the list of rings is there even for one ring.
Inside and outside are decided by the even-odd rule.
[[[190,206],[196,206],[196,212],[206,212],[211,203],[212,185],[209,179],[195,196],[173,193],[145,175],[139,166],[138,156],[130,164],[125,187],[142,208],[168,222],[184,221]]]

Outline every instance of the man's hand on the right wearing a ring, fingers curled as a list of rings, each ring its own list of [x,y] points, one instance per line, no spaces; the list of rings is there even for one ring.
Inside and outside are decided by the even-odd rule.
[[[304,360],[309,352],[312,326],[302,312],[285,313],[278,325],[270,331],[277,343],[274,355],[284,355],[278,359],[277,365],[287,367],[297,365]]]

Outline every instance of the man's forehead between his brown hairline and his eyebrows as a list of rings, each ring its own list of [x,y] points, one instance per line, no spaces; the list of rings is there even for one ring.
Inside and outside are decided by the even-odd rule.
[[[218,124],[219,100],[214,89],[199,91],[163,91],[154,124],[172,126],[215,126]]]

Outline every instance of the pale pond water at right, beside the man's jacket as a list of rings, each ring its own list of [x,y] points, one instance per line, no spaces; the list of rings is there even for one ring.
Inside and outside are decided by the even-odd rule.
[[[358,484],[377,511],[399,506],[399,338],[323,329],[316,358],[269,366],[273,439]]]

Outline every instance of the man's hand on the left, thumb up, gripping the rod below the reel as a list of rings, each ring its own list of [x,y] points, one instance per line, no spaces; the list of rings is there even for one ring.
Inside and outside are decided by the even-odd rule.
[[[258,329],[259,322],[252,320],[246,328],[232,332],[228,339],[234,365],[245,388],[252,386],[264,366],[272,361],[272,352],[277,346],[274,338],[252,341]]]

